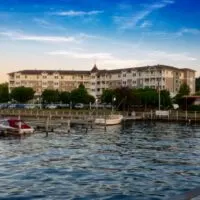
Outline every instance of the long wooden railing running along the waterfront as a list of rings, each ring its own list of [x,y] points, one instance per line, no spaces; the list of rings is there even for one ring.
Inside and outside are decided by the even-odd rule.
[[[94,116],[107,116],[111,114],[110,110],[46,110],[46,109],[0,109],[2,116],[23,116],[23,117],[47,117],[52,118],[76,118],[87,119]],[[116,112],[125,117],[130,116],[128,112]],[[135,117],[135,118],[134,118]],[[128,118],[127,118],[128,119]],[[148,112],[134,112],[134,116],[130,119],[141,120],[163,120],[163,121],[186,121],[186,122],[200,122],[200,111],[169,111],[169,115],[158,116],[155,111]]]

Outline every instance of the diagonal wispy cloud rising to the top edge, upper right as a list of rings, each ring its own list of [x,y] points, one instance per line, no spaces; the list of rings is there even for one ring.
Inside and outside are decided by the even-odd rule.
[[[153,4],[145,6],[143,10],[136,14],[129,16],[114,16],[114,22],[119,25],[120,29],[132,29],[140,22],[146,19],[152,12],[173,4],[172,0],[162,0],[161,2],[154,2]]]

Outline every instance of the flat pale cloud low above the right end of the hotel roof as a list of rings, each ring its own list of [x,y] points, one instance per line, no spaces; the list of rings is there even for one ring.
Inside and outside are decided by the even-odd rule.
[[[164,51],[151,51],[148,56],[154,59],[171,60],[171,61],[195,61],[194,57],[189,56],[187,53],[167,53]]]

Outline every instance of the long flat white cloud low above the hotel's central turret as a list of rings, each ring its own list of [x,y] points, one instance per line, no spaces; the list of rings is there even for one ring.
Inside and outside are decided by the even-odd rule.
[[[48,52],[49,55],[63,55],[77,59],[113,59],[110,53],[85,53],[73,51],[53,51]]]

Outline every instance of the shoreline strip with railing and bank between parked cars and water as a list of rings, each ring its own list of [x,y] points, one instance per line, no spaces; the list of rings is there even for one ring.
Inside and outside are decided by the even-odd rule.
[[[97,117],[107,117],[110,110],[47,110],[47,109],[0,109],[1,117],[20,117],[23,119],[45,120],[85,120],[92,121]],[[157,116],[154,111],[137,112],[129,115],[128,112],[115,112],[123,115],[123,121],[152,121],[152,122],[181,122],[188,124],[200,124],[200,112],[196,111],[170,111],[168,116]]]

